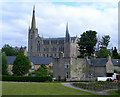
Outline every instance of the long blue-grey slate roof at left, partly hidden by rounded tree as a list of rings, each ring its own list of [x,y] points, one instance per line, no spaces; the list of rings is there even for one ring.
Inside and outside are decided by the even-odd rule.
[[[7,56],[8,64],[13,64],[16,56]],[[33,62],[36,65],[40,64],[50,64],[52,62],[52,58],[46,58],[46,57],[29,57],[30,62]]]

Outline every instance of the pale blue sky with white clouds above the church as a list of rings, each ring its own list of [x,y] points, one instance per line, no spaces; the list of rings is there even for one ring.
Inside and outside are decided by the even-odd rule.
[[[118,47],[118,1],[105,0],[4,0],[0,1],[0,48],[5,44],[28,46],[28,28],[31,26],[35,5],[36,25],[41,37],[56,38],[65,36],[68,22],[70,36],[78,36],[94,30],[101,38],[110,35],[109,48]]]

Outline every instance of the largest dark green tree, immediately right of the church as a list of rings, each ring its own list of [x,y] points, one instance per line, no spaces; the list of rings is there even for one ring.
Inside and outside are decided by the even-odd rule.
[[[96,31],[86,31],[83,32],[81,37],[78,40],[78,45],[79,45],[79,51],[82,56],[88,55],[91,56],[92,53],[94,53],[95,50],[95,45],[97,43],[97,38],[96,38]]]

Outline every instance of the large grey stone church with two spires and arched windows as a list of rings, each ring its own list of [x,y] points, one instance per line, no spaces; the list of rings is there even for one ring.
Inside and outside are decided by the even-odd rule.
[[[28,56],[59,58],[60,53],[64,57],[77,57],[77,37],[70,37],[68,23],[66,24],[66,36],[61,38],[43,38],[39,36],[35,21],[35,7],[31,27],[28,32]]]

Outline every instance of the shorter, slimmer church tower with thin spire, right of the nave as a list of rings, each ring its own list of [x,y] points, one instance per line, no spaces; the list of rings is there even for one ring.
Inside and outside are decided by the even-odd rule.
[[[66,24],[66,37],[65,37],[65,44],[64,44],[64,56],[70,57],[70,43],[71,37],[69,34],[68,23]]]

